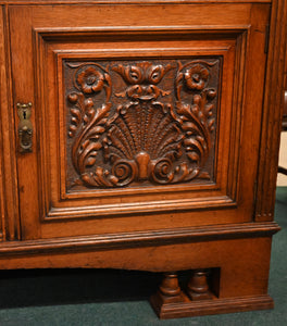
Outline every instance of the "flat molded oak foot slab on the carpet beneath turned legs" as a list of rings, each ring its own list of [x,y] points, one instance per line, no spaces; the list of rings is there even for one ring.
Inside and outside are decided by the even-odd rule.
[[[232,298],[191,301],[183,294],[182,302],[165,303],[158,292],[150,298],[150,303],[161,319],[192,317],[202,315],[236,313],[254,310],[267,310],[274,308],[270,296],[258,296],[247,298]]]

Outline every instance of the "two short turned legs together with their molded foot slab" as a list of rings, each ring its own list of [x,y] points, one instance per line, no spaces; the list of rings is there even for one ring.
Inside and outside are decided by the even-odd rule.
[[[273,300],[267,294],[220,298],[220,277],[222,274],[219,268],[194,269],[185,294],[176,273],[165,273],[150,303],[162,319],[273,308]]]

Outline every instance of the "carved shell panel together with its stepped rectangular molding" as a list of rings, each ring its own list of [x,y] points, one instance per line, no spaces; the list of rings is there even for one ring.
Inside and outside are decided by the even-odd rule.
[[[240,148],[237,141],[227,146],[229,141],[227,133],[229,133],[228,127],[232,127],[233,133],[240,129],[241,108],[237,105],[239,104],[238,97],[242,95],[240,87],[242,87],[244,76],[237,72],[242,71],[241,67],[245,65],[248,29],[212,30],[210,34],[212,41],[209,40],[209,47],[205,47],[204,42],[200,43],[202,57],[195,54],[199,51],[196,39],[197,33],[200,32],[194,28],[191,34],[189,32],[190,29],[186,27],[183,29],[177,27],[172,32],[164,27],[148,32],[141,28],[126,32],[120,29],[109,30],[108,35],[102,30],[87,30],[85,32],[87,33],[85,34],[87,49],[78,52],[68,48],[70,42],[77,42],[83,36],[82,29],[78,32],[67,32],[65,28],[34,30],[38,53],[38,80],[41,80],[38,86],[39,92],[49,87],[47,85],[48,72],[42,71],[42,66],[43,62],[51,60],[57,63],[53,74],[58,75],[57,85],[60,90],[54,95],[59,101],[59,104],[55,104],[59,105],[59,116],[55,117],[59,128],[52,133],[64,130],[59,136],[54,136],[54,139],[60,139],[59,148],[50,150],[53,153],[61,153],[61,170],[58,176],[53,177],[53,180],[60,181],[61,195],[59,195],[60,200],[51,200],[47,192],[49,188],[43,188],[47,221],[58,220],[61,216],[78,218],[80,214],[89,217],[92,208],[97,208],[95,201],[90,202],[90,209],[82,209],[75,205],[75,202],[72,204],[75,206],[74,210],[71,204],[66,205],[65,201],[68,200],[72,203],[74,199],[78,201],[89,198],[116,198],[120,195],[116,188],[121,188],[121,196],[130,199],[126,202],[122,201],[121,206],[107,200],[107,205],[104,205],[101,200],[98,210],[93,210],[93,216],[104,214],[104,208],[109,208],[110,214],[121,215],[132,206],[134,213],[150,212],[152,209],[169,211],[173,204],[179,209],[176,201],[172,199],[174,191],[180,191],[184,196],[185,210],[236,206],[236,165]],[[123,42],[125,38],[136,41],[139,36],[146,42],[154,38],[165,40],[166,35],[170,35],[172,39],[180,35],[184,41],[178,42],[178,48],[172,49],[166,42],[161,60],[154,59],[161,50],[145,49],[145,41],[142,41],[144,46],[139,43],[139,48],[134,49],[133,59],[128,60],[126,59],[128,49],[125,51],[118,46],[116,50],[110,46],[108,49],[90,49],[92,47],[90,40],[98,39],[103,47],[104,39],[109,45],[113,39],[112,35],[124,38]],[[194,43],[191,43],[192,39],[195,39]],[[150,42],[148,45],[150,46]],[[107,55],[111,58],[109,61],[107,61]],[[223,60],[225,68],[222,66]],[[235,78],[230,71],[232,66],[235,70]],[[158,80],[152,73],[157,74]],[[227,78],[234,78],[229,83],[234,83],[238,92],[222,93],[221,78],[224,83]],[[46,102],[43,95],[42,97]],[[42,148],[47,147],[51,137],[47,129],[51,118],[47,116],[49,105],[51,102],[47,103],[47,113],[39,117],[40,121],[46,121],[42,130],[39,130],[43,133]],[[145,110],[140,110],[142,105]],[[222,109],[217,108],[219,105]],[[233,121],[230,121],[232,111],[227,109],[228,106],[237,112],[233,115]],[[228,111],[224,113],[222,110]],[[149,114],[146,114],[148,112]],[[141,122],[137,121],[138,124],[147,124],[146,128],[153,128],[153,133],[157,133],[157,129],[160,130],[160,125],[148,124],[152,114],[155,114],[158,120],[163,118],[163,123],[173,130],[173,137],[165,139],[169,143],[166,152],[163,148],[161,151],[158,150],[158,153],[149,152],[151,149],[147,150],[148,142],[145,136],[141,135],[144,138],[137,137],[136,128],[139,125],[132,121],[137,116],[141,120]],[[127,121],[134,124],[134,130],[129,126],[128,131],[126,129],[125,135],[120,136],[118,126],[120,124],[121,128],[127,126]],[[225,127],[226,134],[225,136],[222,134],[221,139],[216,140],[216,125],[220,126],[220,124]],[[151,139],[152,133],[148,130],[146,135]],[[116,146],[113,142],[116,142]],[[226,145],[225,148],[223,142]],[[83,150],[83,143],[85,150]],[[50,168],[47,162],[51,162],[51,159],[46,156],[45,150],[42,154],[40,159],[45,180],[42,185],[47,185],[47,183],[52,183],[51,176],[46,174]],[[225,159],[223,159],[224,155]],[[224,172],[223,164],[226,166]],[[219,165],[220,170],[217,170]],[[124,176],[125,173],[126,176]],[[189,192],[184,193],[187,187],[189,187]],[[197,189],[201,191],[205,189],[205,196],[195,197]],[[166,193],[164,201],[157,197],[159,191]],[[147,195],[154,192],[154,200],[147,201],[142,196],[135,197],[135,193],[139,192]],[[138,201],[139,198],[140,201]]]

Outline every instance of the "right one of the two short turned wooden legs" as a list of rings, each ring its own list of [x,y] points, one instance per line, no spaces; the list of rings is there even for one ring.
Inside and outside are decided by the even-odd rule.
[[[194,271],[187,286],[187,293],[191,300],[204,300],[212,298],[208,284],[208,272],[205,269]]]

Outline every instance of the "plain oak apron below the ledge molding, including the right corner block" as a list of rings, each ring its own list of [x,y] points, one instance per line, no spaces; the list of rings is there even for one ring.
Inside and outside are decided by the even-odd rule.
[[[141,244],[141,247],[132,246],[115,250],[93,251],[85,249],[74,252],[70,249],[66,253],[60,251],[55,254],[52,252],[39,254],[35,250],[34,254],[28,255],[11,255],[10,259],[1,256],[0,267],[5,269],[40,268],[47,266],[47,264],[50,267],[65,267],[68,264],[70,267],[113,267],[173,272],[174,268],[184,271],[220,266],[219,297],[214,299],[216,309],[208,309],[210,300],[202,300],[199,305],[198,313],[202,314],[203,310],[204,314],[208,314],[272,306],[272,300],[266,296],[270,250],[270,237],[171,243],[166,246]],[[73,260],[71,261],[72,252]],[[67,262],[67,260],[70,261]],[[251,299],[252,297],[253,299]],[[224,308],[225,299],[229,304]],[[215,302],[215,300],[217,301]],[[240,302],[245,304],[240,304]],[[196,315],[197,302],[192,306],[191,303],[189,305],[172,305],[171,309],[175,314],[170,314],[169,317],[188,316],[191,313]]]

